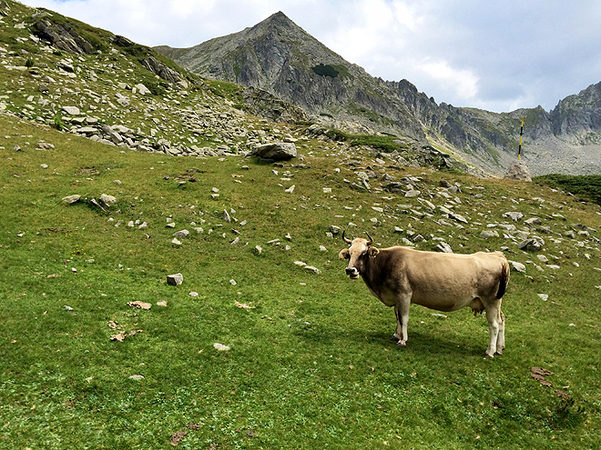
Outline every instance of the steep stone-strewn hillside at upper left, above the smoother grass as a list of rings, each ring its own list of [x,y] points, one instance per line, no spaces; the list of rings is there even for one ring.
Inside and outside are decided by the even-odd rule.
[[[165,155],[249,155],[271,143],[310,155],[379,151],[342,142],[264,90],[191,74],[127,37],[17,2],[0,11],[0,113]],[[417,140],[399,142],[392,156],[403,165],[456,163]]]

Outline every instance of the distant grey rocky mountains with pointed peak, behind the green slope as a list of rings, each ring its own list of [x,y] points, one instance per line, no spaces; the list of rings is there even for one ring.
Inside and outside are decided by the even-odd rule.
[[[497,174],[515,159],[519,118],[526,117],[523,149],[533,175],[601,173],[601,83],[550,113],[540,106],[496,114],[437,105],[407,80],[384,81],[345,61],[283,13],[191,48],[156,49],[199,75],[298,105],[316,122],[409,135]]]

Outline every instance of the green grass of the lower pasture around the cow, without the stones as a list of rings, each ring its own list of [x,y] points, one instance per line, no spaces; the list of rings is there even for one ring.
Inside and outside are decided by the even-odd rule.
[[[430,220],[416,222],[397,206],[411,200],[351,191],[343,182],[351,170],[341,165],[331,175],[328,158],[305,158],[309,170],[293,161],[276,176],[271,165],[251,158],[121,153],[5,115],[0,127],[0,448],[171,448],[178,432],[186,432],[180,448],[601,444],[598,249],[549,243],[546,252],[562,258],[560,271],[539,273],[528,265],[529,276],[512,274],[503,356],[482,359],[484,317],[463,310],[441,320],[419,306],[412,307],[408,346],[398,349],[388,340],[392,310],[343,275],[338,253],[344,245],[326,236],[330,225],[347,235],[369,231],[382,246],[400,241],[394,225],[410,224],[424,236],[446,236],[463,253],[496,250],[507,241],[483,241],[471,227],[441,233]],[[36,150],[40,139],[56,148]],[[194,167],[201,171],[197,181],[179,185],[176,178]],[[280,180],[284,171],[295,175],[290,182]],[[552,202],[562,205],[565,222],[557,219],[557,229],[599,224],[598,208],[539,185],[429,172],[423,189],[435,192],[441,177],[462,184],[463,208],[484,227],[504,220],[512,198],[525,199],[518,206],[525,214],[550,215]],[[290,195],[284,188],[291,184]],[[326,186],[332,193],[322,192]],[[217,199],[212,187],[219,188]],[[89,202],[61,203],[66,195],[103,193],[117,197],[109,214]],[[534,196],[545,204],[528,200]],[[443,204],[438,197],[433,202]],[[385,213],[373,211],[374,204]],[[221,219],[231,208],[238,223]],[[168,216],[175,229],[166,228]],[[374,216],[381,226],[372,226]],[[127,226],[136,219],[148,228]],[[176,247],[171,235],[182,228],[191,235]],[[239,245],[230,244],[232,228],[242,234]],[[267,244],[275,238],[281,245]],[[428,238],[418,246],[435,244]],[[510,259],[535,259],[511,248]],[[322,274],[305,273],[296,260]],[[178,272],[183,285],[167,285],[166,276]],[[127,306],[135,300],[152,307]],[[142,331],[114,342],[111,321],[123,331]],[[231,349],[218,352],[216,342]],[[535,365],[554,373],[547,377],[553,387],[531,378]]]

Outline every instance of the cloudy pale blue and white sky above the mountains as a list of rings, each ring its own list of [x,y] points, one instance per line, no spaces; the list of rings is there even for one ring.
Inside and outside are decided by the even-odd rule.
[[[599,0],[22,0],[125,35],[188,47],[282,11],[385,80],[437,103],[495,112],[542,105],[601,81]]]

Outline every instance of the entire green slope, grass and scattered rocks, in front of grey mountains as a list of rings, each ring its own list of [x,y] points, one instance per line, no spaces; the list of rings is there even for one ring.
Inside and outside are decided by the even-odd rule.
[[[596,176],[484,176],[76,19],[0,13],[0,448],[601,446]],[[503,252],[503,355],[469,308],[412,305],[397,347],[343,232]]]

